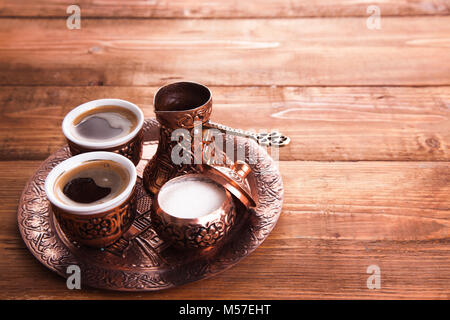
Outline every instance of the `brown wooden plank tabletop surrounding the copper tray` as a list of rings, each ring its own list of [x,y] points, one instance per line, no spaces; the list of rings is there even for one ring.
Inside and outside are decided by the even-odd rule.
[[[450,298],[450,3],[347,0],[0,1],[1,298]],[[212,119],[279,129],[282,215],[252,255],[156,293],[83,288],[26,249],[17,204],[98,98],[154,116],[157,87],[211,87]],[[367,268],[381,269],[368,289]]]

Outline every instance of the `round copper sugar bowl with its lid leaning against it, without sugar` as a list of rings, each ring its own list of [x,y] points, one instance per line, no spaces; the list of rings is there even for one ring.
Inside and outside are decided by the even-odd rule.
[[[186,174],[169,180],[155,195],[152,203],[151,219],[155,230],[161,238],[171,242],[176,248],[211,248],[230,234],[236,221],[236,202],[245,207],[254,207],[246,176],[251,172],[250,166],[237,161],[229,167],[202,165],[195,174]],[[192,218],[175,216],[165,211],[161,195],[175,184],[180,187],[189,181],[206,181],[216,184],[225,193],[221,205],[211,212]],[[198,201],[205,203],[204,194],[197,194]],[[173,199],[175,201],[175,199]],[[167,210],[167,209],[166,209]]]

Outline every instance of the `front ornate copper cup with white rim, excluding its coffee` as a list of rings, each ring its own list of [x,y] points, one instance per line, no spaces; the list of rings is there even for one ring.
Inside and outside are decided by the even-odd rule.
[[[76,206],[63,202],[56,195],[57,179],[65,172],[95,160],[113,161],[128,172],[129,179],[122,191],[100,204]],[[61,230],[68,238],[103,248],[119,239],[135,218],[136,179],[136,168],[129,159],[112,152],[89,152],[71,157],[53,168],[45,180],[45,192]]]

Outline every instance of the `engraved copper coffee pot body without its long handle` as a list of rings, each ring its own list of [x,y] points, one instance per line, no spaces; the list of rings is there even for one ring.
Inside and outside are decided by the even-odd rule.
[[[187,173],[193,173],[191,164],[175,164],[171,159],[178,141],[172,141],[176,129],[186,129],[194,139],[194,127],[209,120],[212,110],[211,91],[195,82],[176,82],[161,87],[154,97],[156,119],[160,124],[158,148],[148,162],[143,175],[144,187],[156,194],[168,180]],[[192,150],[194,144],[187,152]]]

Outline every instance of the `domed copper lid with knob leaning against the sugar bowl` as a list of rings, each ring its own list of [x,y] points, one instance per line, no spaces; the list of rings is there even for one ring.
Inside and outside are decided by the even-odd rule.
[[[251,170],[247,163],[240,160],[236,161],[231,168],[226,166],[212,166],[209,164],[200,166],[201,173],[224,186],[225,189],[231,192],[247,208],[256,206],[246,179]]]

